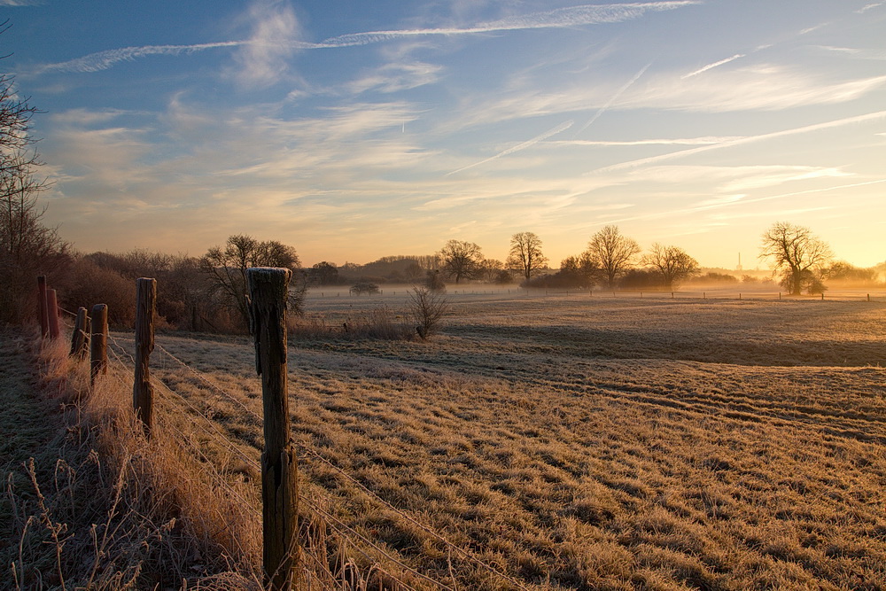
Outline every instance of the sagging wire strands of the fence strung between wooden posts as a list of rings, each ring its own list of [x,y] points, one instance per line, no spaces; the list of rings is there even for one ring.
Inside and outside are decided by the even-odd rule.
[[[135,336],[131,333],[117,332],[109,334],[108,340],[109,358],[113,361],[113,365],[115,366],[113,371],[109,372],[109,375],[112,379],[119,382],[121,388],[131,389],[131,376],[132,371],[135,368],[135,359],[130,351],[135,347]],[[187,362],[183,362],[183,360],[178,358],[175,354],[168,351],[166,347],[155,342],[154,348],[155,351],[161,354],[160,360],[158,360],[159,367],[157,369],[160,369],[164,373],[168,373],[170,369],[182,371],[184,374],[193,377],[194,380],[206,391],[217,394],[221,400],[229,402],[242,411],[245,416],[250,416],[255,419],[257,424],[262,423],[262,416],[254,408],[251,408],[245,400],[242,400],[234,393],[223,388],[211,377],[206,376],[205,373],[193,368]],[[125,378],[127,375],[130,376],[128,380]],[[152,376],[152,384],[156,386],[155,392],[159,393],[159,402],[161,407],[164,408],[164,412],[155,413],[158,424],[163,425],[170,432],[175,432],[180,441],[190,442],[190,445],[188,446],[189,451],[197,455],[201,460],[201,463],[212,467],[212,470],[214,470],[214,480],[224,489],[225,493],[229,494],[231,498],[237,499],[237,502],[242,502],[244,506],[255,507],[256,517],[260,517],[260,509],[257,506],[259,503],[258,497],[256,496],[253,500],[245,499],[240,491],[226,484],[226,478],[224,478],[221,470],[215,466],[215,463],[210,457],[208,457],[208,455],[206,455],[206,453],[200,448],[198,442],[195,440],[193,431],[196,430],[199,434],[211,440],[215,446],[226,450],[231,456],[237,457],[237,459],[243,462],[246,466],[258,473],[260,473],[261,470],[257,457],[259,450],[253,447],[254,453],[253,455],[250,455],[248,452],[244,451],[242,447],[232,441],[229,433],[225,432],[219,424],[214,421],[214,414],[220,412],[221,408],[213,408],[211,406],[212,397],[201,397],[200,406],[202,408],[200,408],[198,405],[191,402],[188,396],[176,392],[175,388],[167,384],[167,381],[164,379]],[[169,416],[192,417],[194,420],[190,421],[188,425],[188,429],[191,430],[191,432],[184,432],[182,428],[175,424],[175,421],[168,418]],[[307,467],[308,471],[314,469],[316,465],[323,465],[323,467],[333,470],[341,478],[344,478],[347,482],[354,485],[362,494],[367,495],[372,502],[385,510],[392,512],[392,514],[400,517],[405,522],[416,526],[431,537],[431,539],[439,542],[444,548],[447,548],[448,556],[456,556],[464,561],[464,563],[471,564],[478,569],[488,572],[494,578],[507,583],[511,588],[528,591],[529,587],[526,587],[523,582],[514,579],[508,573],[501,571],[501,569],[496,568],[491,564],[487,564],[470,549],[462,548],[458,544],[447,540],[446,536],[439,533],[439,531],[431,525],[424,523],[415,515],[404,509],[395,507],[391,502],[388,502],[383,497],[373,492],[368,486],[365,486],[357,478],[354,478],[354,476],[349,474],[346,470],[330,461],[330,459],[323,456],[315,449],[307,447],[304,444],[299,444],[298,452],[299,464]],[[354,550],[360,553],[361,556],[364,556],[373,562],[384,560],[386,563],[396,566],[400,569],[400,572],[408,572],[416,579],[422,580],[425,585],[431,585],[435,588],[447,589],[450,591],[454,590],[455,587],[450,587],[440,580],[434,579],[429,574],[421,572],[416,567],[406,564],[398,556],[394,556],[390,548],[384,548],[379,543],[370,540],[366,534],[357,531],[354,526],[348,525],[342,520],[342,518],[336,517],[329,510],[323,509],[324,504],[331,502],[330,499],[312,498],[302,494],[300,501],[304,502],[307,509],[309,509],[315,516],[322,518],[323,522],[330,528],[330,530],[336,533],[341,540],[346,540],[349,546],[354,548]],[[369,552],[370,549],[371,553]],[[385,573],[392,579],[397,580],[403,588],[412,588],[402,580],[397,579],[390,571],[385,570]],[[450,577],[454,579],[453,584],[455,585],[455,575],[450,573]]]

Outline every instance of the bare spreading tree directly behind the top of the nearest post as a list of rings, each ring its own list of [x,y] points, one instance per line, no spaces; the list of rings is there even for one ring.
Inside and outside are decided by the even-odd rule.
[[[249,324],[249,307],[246,302],[246,269],[250,267],[283,267],[299,273],[299,255],[291,246],[276,240],[260,242],[251,236],[237,234],[228,237],[224,247],[214,246],[200,259],[200,270],[208,277],[210,289],[227,306],[237,311],[245,325]],[[304,310],[305,280],[290,289],[291,311],[302,314]]]

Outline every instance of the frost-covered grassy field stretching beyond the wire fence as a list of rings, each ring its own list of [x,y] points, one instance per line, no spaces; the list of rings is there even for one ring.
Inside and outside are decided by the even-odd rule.
[[[453,589],[886,587],[882,299],[462,293],[428,341],[339,329],[380,306],[407,322],[405,291],[312,293],[335,333],[289,354],[301,493],[364,571],[360,536]],[[190,405],[159,412],[211,417],[237,454],[208,458],[257,480],[252,343],[157,343]]]

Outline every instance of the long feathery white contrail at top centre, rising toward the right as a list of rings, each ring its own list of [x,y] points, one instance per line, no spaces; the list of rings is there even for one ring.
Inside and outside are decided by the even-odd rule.
[[[565,28],[600,25],[638,19],[647,12],[672,11],[685,6],[701,4],[696,0],[675,0],[673,2],[646,2],[634,4],[584,4],[559,8],[548,12],[532,12],[523,16],[479,23],[471,27],[415,28],[387,31],[369,31],[338,35],[324,40],[324,47],[347,47],[367,45],[420,35],[475,35],[496,31],[517,31],[533,28]]]

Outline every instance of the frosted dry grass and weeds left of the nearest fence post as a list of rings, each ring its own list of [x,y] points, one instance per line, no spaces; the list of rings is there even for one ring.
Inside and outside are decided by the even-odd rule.
[[[236,484],[209,486],[174,434],[144,438],[131,378],[127,389],[112,369],[90,393],[88,362],[69,361],[65,339],[7,336],[4,402],[23,413],[4,425],[17,439],[4,465],[4,588],[260,587],[253,511],[230,498]]]

